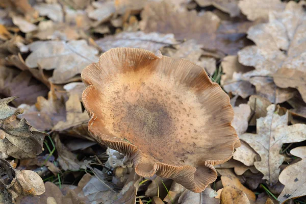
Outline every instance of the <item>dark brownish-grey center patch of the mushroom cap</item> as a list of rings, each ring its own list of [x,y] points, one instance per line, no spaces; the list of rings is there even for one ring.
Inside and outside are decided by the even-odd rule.
[[[136,104],[130,104],[124,120],[132,124],[128,131],[134,136],[162,137],[169,135],[172,129],[169,113],[156,101],[138,100]]]

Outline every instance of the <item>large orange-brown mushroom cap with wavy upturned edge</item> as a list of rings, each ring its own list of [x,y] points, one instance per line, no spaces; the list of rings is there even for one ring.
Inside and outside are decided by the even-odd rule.
[[[114,48],[82,79],[88,130],[133,159],[141,176],[157,174],[201,192],[217,178],[213,165],[240,146],[230,98],[190,61]]]

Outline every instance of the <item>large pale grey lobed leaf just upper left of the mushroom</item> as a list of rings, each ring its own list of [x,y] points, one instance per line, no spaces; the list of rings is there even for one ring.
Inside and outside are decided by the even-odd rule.
[[[49,80],[56,84],[67,83],[89,64],[98,61],[98,50],[85,40],[36,41],[29,45],[32,53],[25,60],[30,68],[38,65],[45,70],[55,69]]]

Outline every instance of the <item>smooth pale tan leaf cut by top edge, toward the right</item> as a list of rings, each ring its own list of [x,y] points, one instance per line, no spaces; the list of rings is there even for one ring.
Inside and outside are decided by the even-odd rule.
[[[278,0],[241,0],[238,3],[241,12],[249,20],[259,18],[268,19],[270,12],[279,12],[285,9],[286,4]]]

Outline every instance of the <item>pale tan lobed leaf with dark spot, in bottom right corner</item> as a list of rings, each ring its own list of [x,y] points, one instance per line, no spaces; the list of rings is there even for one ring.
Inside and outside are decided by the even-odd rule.
[[[305,175],[306,171],[306,147],[300,146],[292,149],[290,154],[301,158],[302,160],[289,165],[279,175],[279,182],[285,185],[278,201],[284,203],[286,200],[306,195]]]

